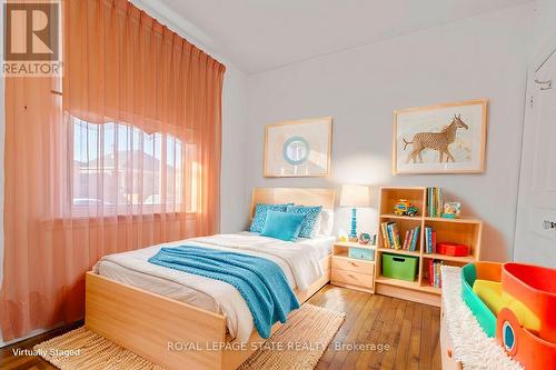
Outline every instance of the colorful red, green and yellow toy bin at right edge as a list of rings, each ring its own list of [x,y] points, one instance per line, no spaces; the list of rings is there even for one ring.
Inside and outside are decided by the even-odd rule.
[[[556,369],[556,270],[476,262],[461,269],[461,297],[488,337],[525,369]]]

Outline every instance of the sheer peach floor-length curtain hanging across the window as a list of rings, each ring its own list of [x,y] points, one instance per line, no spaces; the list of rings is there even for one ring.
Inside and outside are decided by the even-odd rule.
[[[128,1],[63,3],[64,77],[6,79],[4,340],[105,254],[219,230],[225,67]]]

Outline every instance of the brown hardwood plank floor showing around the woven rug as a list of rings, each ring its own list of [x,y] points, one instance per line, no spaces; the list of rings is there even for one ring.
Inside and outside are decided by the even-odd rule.
[[[324,287],[309,303],[346,312],[346,321],[317,369],[441,368],[438,308],[332,286]],[[38,357],[13,356],[12,349],[31,349],[79,326],[53,330],[0,349],[0,369],[54,369]],[[357,344],[363,348],[354,348]]]

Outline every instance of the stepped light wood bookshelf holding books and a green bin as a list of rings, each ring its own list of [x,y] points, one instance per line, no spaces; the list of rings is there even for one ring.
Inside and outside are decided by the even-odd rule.
[[[417,207],[415,217],[394,214],[394,204],[399,199],[407,199]],[[483,221],[471,218],[445,219],[426,217],[427,188],[381,188],[378,214],[378,238],[375,254],[375,292],[407,299],[420,303],[440,306],[440,288],[435,288],[428,281],[428,261],[441,260],[444,264],[464,266],[480,259],[480,240]],[[407,230],[420,226],[415,251],[391,249],[384,244],[381,222],[398,224],[401,242]],[[470,247],[470,254],[454,257],[440,253],[425,252],[425,228],[431,227],[436,231],[437,242],[457,242]],[[418,258],[417,278],[415,281],[393,279],[381,276],[383,253],[411,256]]]

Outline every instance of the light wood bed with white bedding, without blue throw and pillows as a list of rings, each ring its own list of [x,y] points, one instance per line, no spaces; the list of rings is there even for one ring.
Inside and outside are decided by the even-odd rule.
[[[322,206],[331,218],[334,198],[331,189],[256,188],[251,216],[257,203],[295,202]],[[86,326],[167,369],[236,369],[255,351],[256,346],[251,344],[264,341],[254,330],[249,311],[238,304],[238,300],[242,301],[239,292],[234,296],[229,289],[235,288],[215,280],[207,283],[207,278],[186,279],[180,271],[147,260],[161,247],[242,248],[244,253],[279,264],[302,303],[330,279],[334,238],[300,239],[287,246],[289,257],[276,252],[284,250],[281,243],[245,232],[177,241],[105,258],[87,273]],[[311,253],[311,260],[318,257],[316,268],[321,273],[300,278],[300,271],[305,273],[307,268],[291,264]],[[280,326],[274,324],[271,331]]]

